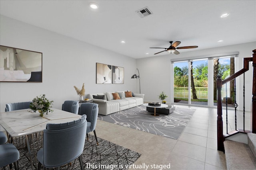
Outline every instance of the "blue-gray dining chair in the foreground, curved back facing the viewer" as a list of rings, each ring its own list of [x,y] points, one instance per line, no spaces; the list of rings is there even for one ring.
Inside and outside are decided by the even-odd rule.
[[[82,152],[86,134],[86,115],[66,123],[48,123],[44,129],[43,148],[37,153],[38,170],[46,168],[60,169],[60,166],[79,158],[84,170]]]

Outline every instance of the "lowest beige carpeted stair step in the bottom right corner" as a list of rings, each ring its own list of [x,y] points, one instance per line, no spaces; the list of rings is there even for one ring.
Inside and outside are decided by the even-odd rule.
[[[224,148],[228,170],[256,169],[256,158],[245,143],[225,140]]]

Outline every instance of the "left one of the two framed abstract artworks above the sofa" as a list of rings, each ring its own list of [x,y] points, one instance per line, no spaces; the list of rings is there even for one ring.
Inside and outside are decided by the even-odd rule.
[[[96,84],[111,84],[111,65],[96,63]]]

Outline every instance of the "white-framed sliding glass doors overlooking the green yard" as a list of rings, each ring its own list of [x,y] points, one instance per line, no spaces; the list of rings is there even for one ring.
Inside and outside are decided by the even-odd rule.
[[[234,74],[235,57],[226,55],[193,59],[188,61],[174,61],[173,67],[173,102],[188,105],[217,105],[216,76],[222,80]],[[226,85],[225,85],[226,86]],[[232,107],[234,102],[234,83],[230,82],[222,88],[222,103]]]

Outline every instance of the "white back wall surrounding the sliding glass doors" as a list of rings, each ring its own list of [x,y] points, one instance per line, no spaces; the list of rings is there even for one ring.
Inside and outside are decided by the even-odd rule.
[[[199,47],[200,48],[200,47]],[[155,56],[144,59],[137,59],[137,66],[140,70],[140,83],[141,83],[141,93],[146,94],[144,100],[148,102],[158,101],[158,95],[161,91],[166,92],[168,98],[166,102],[171,102],[171,60],[173,59],[193,59],[203,56],[229,53],[229,52],[239,52],[238,70],[243,68],[243,58],[251,57],[252,50],[256,49],[256,42],[244,43],[238,45],[230,45],[226,47],[218,47],[204,50],[195,50],[186,52],[185,49],[179,50],[180,54],[167,54],[162,56]],[[246,101],[245,107],[246,111],[250,111],[250,104],[252,101],[252,65],[250,64],[250,70],[246,72]],[[239,81],[239,108],[242,109],[243,101],[243,81],[240,77]]]

